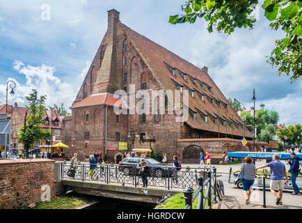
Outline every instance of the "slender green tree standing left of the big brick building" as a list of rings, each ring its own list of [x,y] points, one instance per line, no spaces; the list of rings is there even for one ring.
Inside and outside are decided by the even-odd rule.
[[[32,93],[26,97],[28,102],[27,110],[24,117],[24,125],[22,125],[20,134],[18,137],[18,142],[24,144],[24,149],[26,155],[28,156],[29,147],[31,144],[39,141],[40,139],[46,139],[51,137],[51,132],[41,128],[39,125],[45,123],[43,116],[45,115],[45,100],[46,95],[40,96],[38,98],[38,92],[33,90]]]

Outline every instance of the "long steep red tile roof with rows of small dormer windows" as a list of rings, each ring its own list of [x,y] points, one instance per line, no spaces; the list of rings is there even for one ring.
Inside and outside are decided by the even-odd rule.
[[[242,123],[241,118],[230,106],[228,100],[208,75],[207,68],[200,69],[194,66],[192,63],[180,58],[180,56],[168,51],[168,49],[165,49],[157,43],[154,43],[152,40],[145,38],[145,36],[136,33],[136,31],[133,31],[121,22],[119,22],[118,25],[122,26],[122,29],[124,29],[132,45],[135,47],[139,56],[141,56],[141,59],[143,59],[146,66],[148,66],[154,78],[159,82],[162,89],[177,90],[176,83],[183,86],[184,89],[195,91],[194,97],[189,95],[189,109],[196,112],[197,108],[204,114],[212,114],[214,117],[224,117],[223,119],[226,118],[230,122],[234,120],[238,122],[239,128],[235,126],[232,128],[228,123],[225,123],[225,126],[223,126],[219,121],[217,121],[218,125],[216,125],[211,121],[211,118],[208,118],[208,122],[205,123],[201,117],[193,120],[191,116],[189,116],[189,120],[186,121],[187,125],[199,130],[235,134],[239,136],[242,135],[242,127],[240,125]],[[168,66],[175,69],[175,75],[169,71]],[[186,75],[186,80],[184,79],[184,75]],[[195,84],[193,79],[196,79]],[[202,83],[205,84],[205,89],[202,89]],[[212,91],[210,91],[208,87]],[[202,101],[198,93],[205,95],[205,100]],[[207,98],[212,98],[213,102],[209,102]],[[218,106],[216,101],[220,102],[221,105]],[[226,109],[222,104],[227,105]],[[198,112],[196,113],[196,115],[198,115]],[[246,130],[246,137],[253,137],[253,135]]]

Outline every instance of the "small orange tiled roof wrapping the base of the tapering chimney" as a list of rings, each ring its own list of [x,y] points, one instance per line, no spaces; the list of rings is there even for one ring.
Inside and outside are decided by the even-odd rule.
[[[95,95],[89,95],[84,100],[77,102],[72,105],[70,109],[75,109],[78,107],[86,107],[86,106],[95,106],[95,105],[110,105],[115,107],[127,108],[125,102],[122,102],[121,98],[118,98],[115,95],[111,95],[110,93],[100,93]]]

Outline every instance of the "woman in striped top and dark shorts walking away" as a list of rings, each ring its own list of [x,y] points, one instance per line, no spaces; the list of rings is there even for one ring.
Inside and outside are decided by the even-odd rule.
[[[243,190],[244,190],[244,197],[246,197],[246,205],[250,204],[251,198],[251,187],[255,182],[255,174],[256,174],[256,167],[252,163],[253,160],[251,156],[247,156],[244,158],[244,164],[241,165],[240,171],[244,173],[244,179],[242,180]]]

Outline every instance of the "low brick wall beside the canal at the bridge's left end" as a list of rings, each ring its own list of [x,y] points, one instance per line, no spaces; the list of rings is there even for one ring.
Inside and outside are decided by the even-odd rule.
[[[54,160],[0,160],[0,209],[16,209],[41,201],[42,185],[55,196]]]

